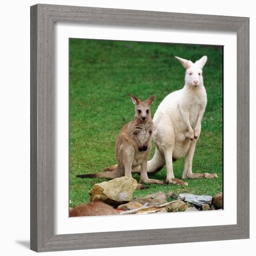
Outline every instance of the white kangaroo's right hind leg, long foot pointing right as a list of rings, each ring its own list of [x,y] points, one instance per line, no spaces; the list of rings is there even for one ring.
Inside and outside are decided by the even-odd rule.
[[[186,160],[184,164],[184,170],[182,174],[182,179],[200,179],[200,178],[218,178],[216,173],[193,173],[192,172],[192,162],[195,152],[195,145],[197,140],[193,140],[190,142],[189,151],[186,155]]]

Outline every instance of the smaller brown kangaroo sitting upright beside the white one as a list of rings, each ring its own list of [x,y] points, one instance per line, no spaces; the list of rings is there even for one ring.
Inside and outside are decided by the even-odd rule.
[[[159,180],[148,178],[147,162],[151,150],[151,137],[153,132],[153,121],[151,119],[150,105],[155,99],[155,95],[146,101],[130,94],[132,102],[135,104],[134,119],[125,124],[115,142],[115,157],[117,165],[105,168],[98,174],[77,175],[80,178],[101,177],[114,179],[121,176],[132,177],[132,168],[141,167],[140,183],[164,184]],[[145,189],[138,184],[138,189]]]

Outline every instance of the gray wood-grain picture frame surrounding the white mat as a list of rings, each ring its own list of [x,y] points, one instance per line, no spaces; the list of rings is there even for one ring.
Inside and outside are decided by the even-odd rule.
[[[54,235],[54,22],[236,32],[236,225]],[[38,252],[249,238],[249,18],[45,4],[32,6],[30,213],[31,249]]]

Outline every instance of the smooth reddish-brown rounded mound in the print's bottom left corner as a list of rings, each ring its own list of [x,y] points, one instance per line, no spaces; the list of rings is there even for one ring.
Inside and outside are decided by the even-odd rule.
[[[118,215],[119,212],[104,202],[80,204],[69,211],[69,217]]]

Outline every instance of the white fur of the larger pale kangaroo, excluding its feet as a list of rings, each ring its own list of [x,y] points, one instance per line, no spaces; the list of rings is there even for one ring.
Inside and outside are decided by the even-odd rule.
[[[168,94],[155,112],[153,141],[156,151],[148,162],[148,172],[154,172],[166,164],[167,182],[172,182],[174,178],[172,159],[179,159],[186,154],[182,179],[198,175],[193,176],[192,161],[207,104],[202,78],[202,68],[207,57],[203,56],[195,63],[176,58],[186,68],[185,85],[181,90]]]

